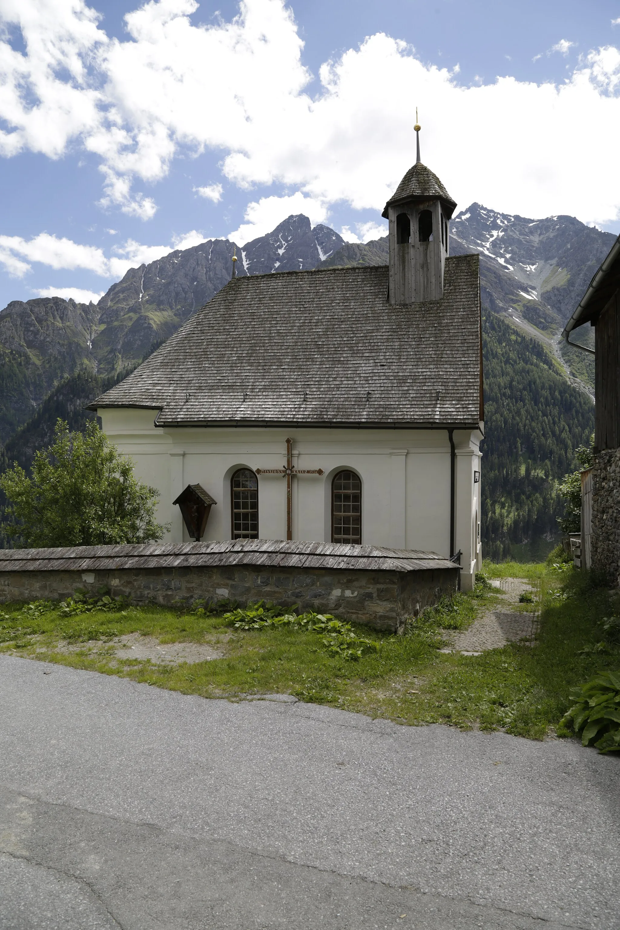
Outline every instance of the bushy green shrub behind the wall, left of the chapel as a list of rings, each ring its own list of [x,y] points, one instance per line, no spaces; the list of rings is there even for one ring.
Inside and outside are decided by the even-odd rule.
[[[69,432],[61,419],[54,442],[38,451],[29,477],[16,462],[0,477],[7,495],[4,528],[34,546],[98,546],[161,539],[159,492],[140,482],[94,420]]]

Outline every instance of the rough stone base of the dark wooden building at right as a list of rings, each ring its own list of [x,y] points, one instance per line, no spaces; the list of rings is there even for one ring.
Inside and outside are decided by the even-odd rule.
[[[620,449],[604,449],[592,472],[592,570],[620,584]]]

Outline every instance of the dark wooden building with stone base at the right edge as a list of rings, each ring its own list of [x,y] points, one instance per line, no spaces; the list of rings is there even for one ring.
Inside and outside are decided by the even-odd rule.
[[[596,412],[591,498],[582,504],[584,563],[620,583],[620,236],[590,282],[562,333],[569,345],[577,326],[594,326]],[[590,476],[584,476],[587,488]],[[591,525],[588,539],[589,511]],[[588,565],[588,562],[590,563]]]

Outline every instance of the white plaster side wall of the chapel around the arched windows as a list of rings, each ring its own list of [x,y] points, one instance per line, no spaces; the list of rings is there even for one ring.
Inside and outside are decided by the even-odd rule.
[[[131,456],[136,474],[160,491],[158,519],[170,523],[165,539],[188,540],[172,501],[186,485],[200,484],[217,500],[204,539],[231,538],[231,475],[238,468],[282,468],[285,440],[293,439],[299,469],[324,474],[293,479],[293,538],[331,539],[331,483],[350,469],[362,481],[362,540],[376,546],[450,554],[450,444],[445,430],[345,430],[155,427],[156,410],[100,409],[103,429]],[[455,548],[463,551],[464,587],[472,583],[479,552],[473,534],[480,513],[481,433],[455,431]],[[286,482],[258,477],[258,532],[286,538]]]

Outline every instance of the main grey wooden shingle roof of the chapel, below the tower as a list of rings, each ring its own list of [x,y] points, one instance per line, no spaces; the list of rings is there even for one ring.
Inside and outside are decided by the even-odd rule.
[[[91,405],[160,426],[478,425],[479,257],[441,300],[388,304],[387,266],[236,278]]]

